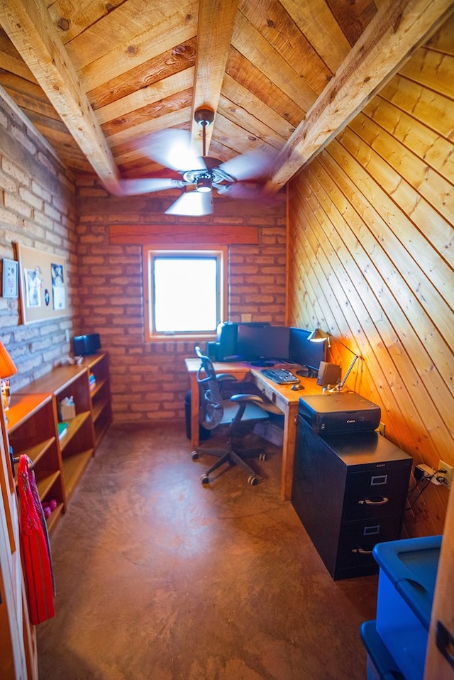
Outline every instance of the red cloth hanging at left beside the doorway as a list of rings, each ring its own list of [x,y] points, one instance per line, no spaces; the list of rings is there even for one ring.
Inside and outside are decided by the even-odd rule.
[[[28,456],[20,456],[18,492],[21,505],[21,548],[23,576],[26,582],[28,609],[33,625],[55,615],[54,580],[47,525],[36,488],[35,474]]]

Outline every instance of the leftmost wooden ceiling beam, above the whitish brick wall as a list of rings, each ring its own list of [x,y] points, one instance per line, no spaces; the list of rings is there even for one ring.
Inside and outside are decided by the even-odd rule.
[[[43,0],[0,0],[0,23],[106,188],[118,168]]]

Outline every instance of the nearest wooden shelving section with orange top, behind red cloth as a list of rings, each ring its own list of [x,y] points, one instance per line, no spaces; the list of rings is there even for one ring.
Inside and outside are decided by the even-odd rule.
[[[25,454],[31,459],[41,503],[57,501],[47,520],[50,533],[66,505],[55,400],[52,394],[16,394],[6,415],[14,458]],[[17,479],[18,465],[14,468]]]

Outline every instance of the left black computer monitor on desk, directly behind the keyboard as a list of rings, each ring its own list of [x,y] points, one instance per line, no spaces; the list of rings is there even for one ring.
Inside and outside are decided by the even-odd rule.
[[[246,361],[289,357],[288,326],[238,324],[237,355]]]

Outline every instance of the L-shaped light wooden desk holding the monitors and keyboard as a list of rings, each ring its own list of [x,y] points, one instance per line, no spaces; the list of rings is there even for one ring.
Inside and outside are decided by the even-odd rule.
[[[184,360],[191,381],[191,445],[199,446],[199,385],[197,371],[200,366],[198,358]],[[278,366],[278,365],[276,365]],[[282,366],[289,368],[289,366]],[[310,394],[321,394],[321,388],[315,378],[299,378],[304,390],[294,391],[292,385],[277,385],[265,378],[260,368],[250,366],[245,361],[231,363],[214,363],[216,373],[232,373],[238,380],[251,380],[262,390],[284,415],[284,442],[282,443],[281,500],[292,498],[293,464],[295,440],[297,437],[297,412],[299,397]]]

